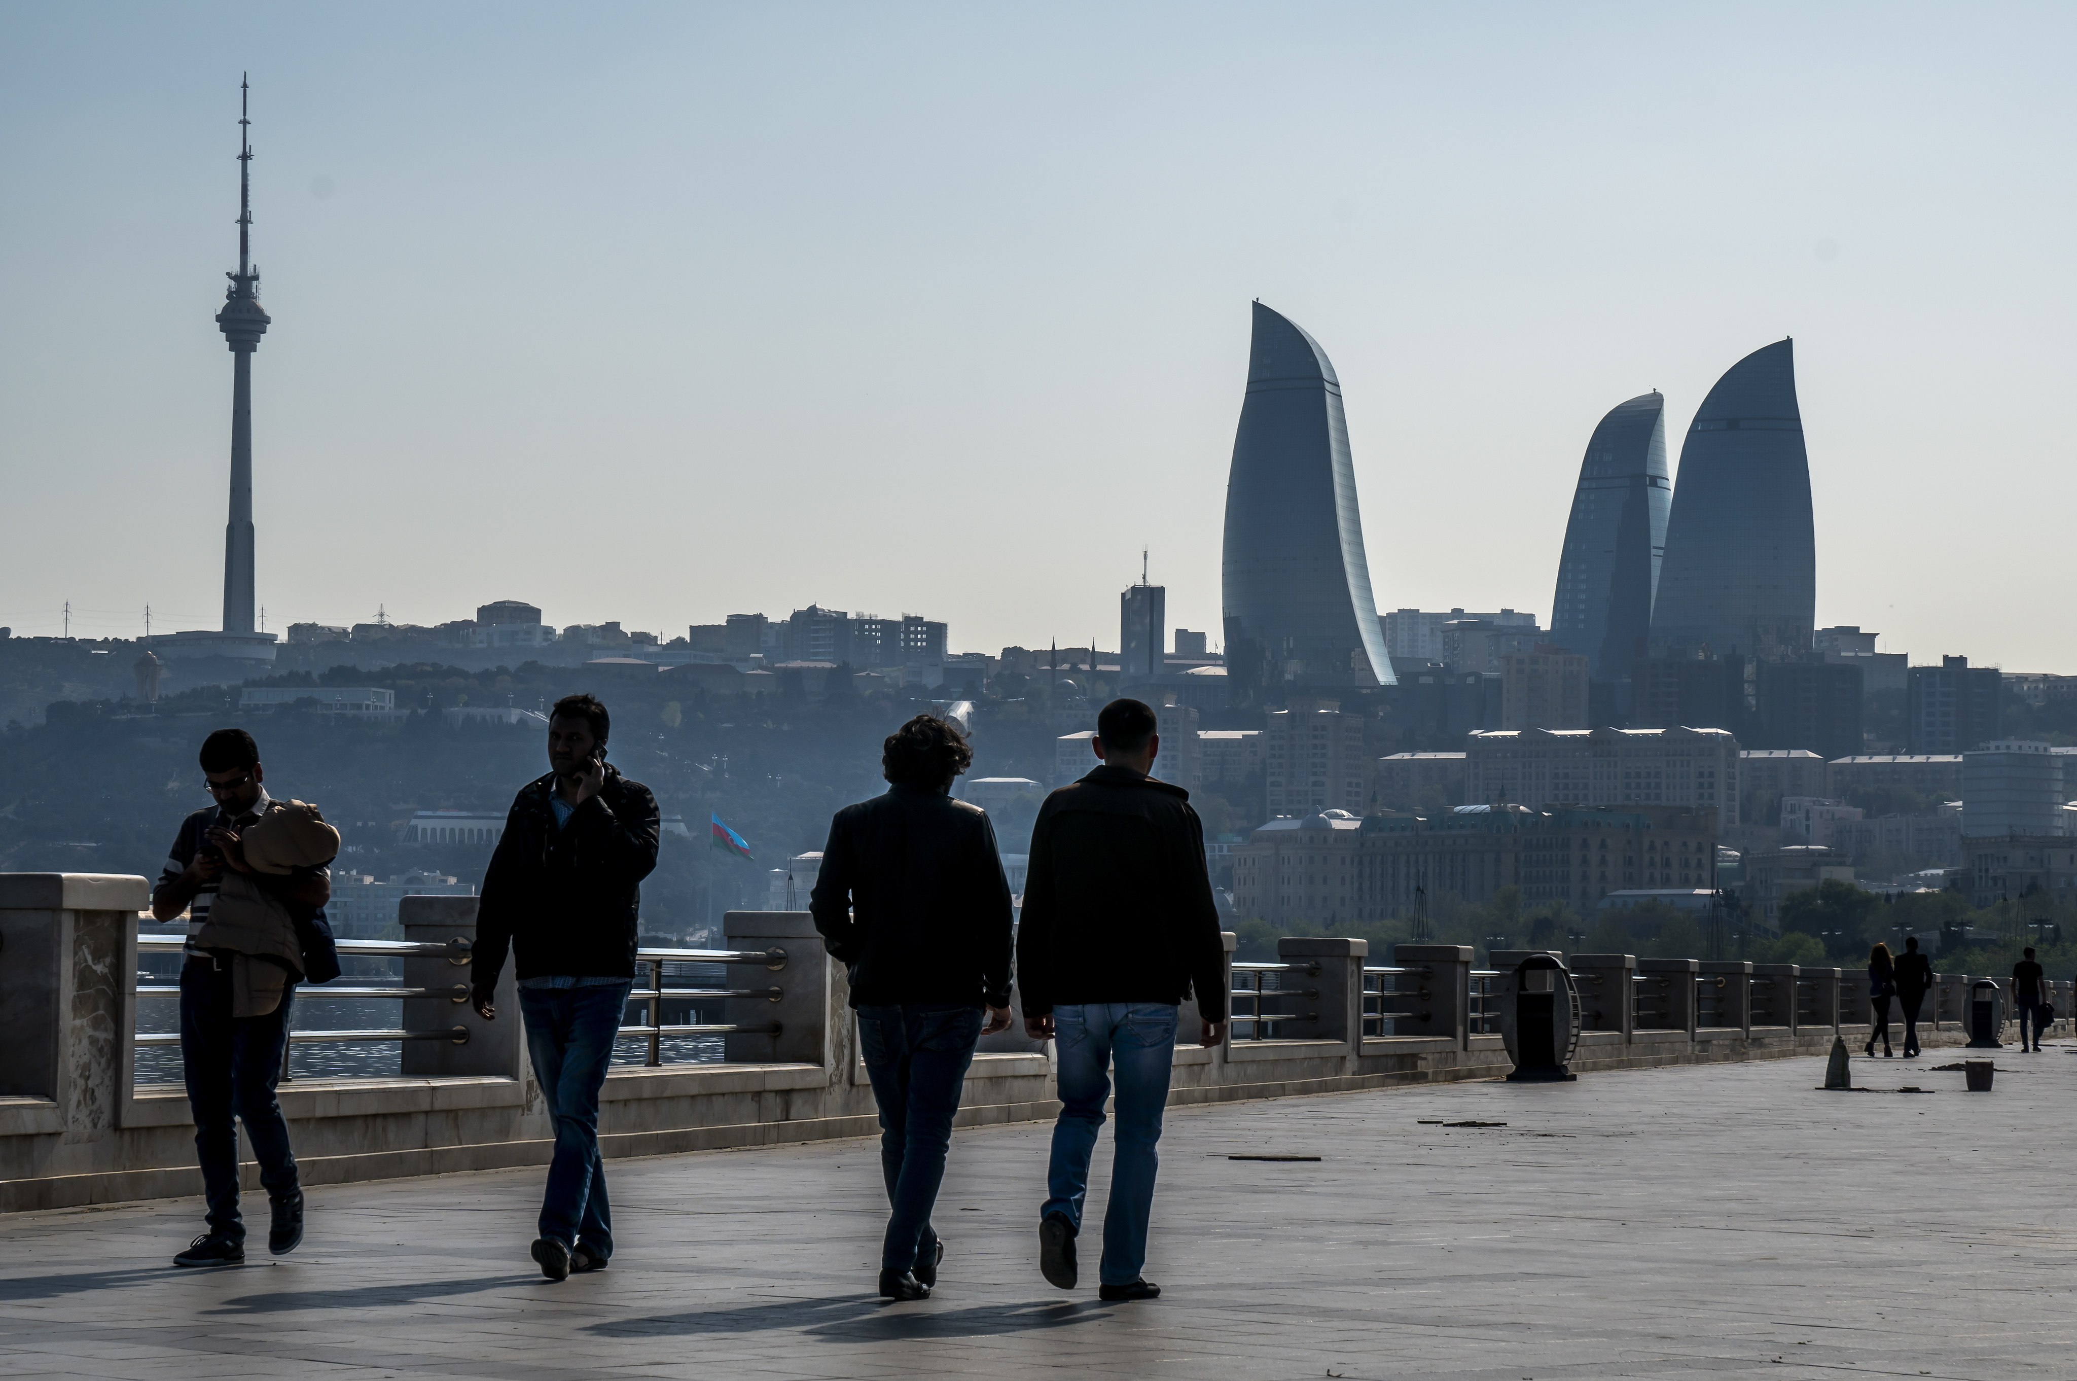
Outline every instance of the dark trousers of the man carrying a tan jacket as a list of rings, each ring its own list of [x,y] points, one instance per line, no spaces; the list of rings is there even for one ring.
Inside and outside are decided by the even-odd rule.
[[[201,1194],[210,1231],[245,1240],[239,1217],[239,1130],[260,1161],[260,1184],[270,1198],[293,1194],[295,1153],[289,1123],[274,1101],[280,1053],[289,1045],[295,984],[282,989],[280,1007],[264,1018],[231,1016],[231,962],[189,957],[181,966],[181,1074],[195,1113],[195,1150],[201,1157]]]

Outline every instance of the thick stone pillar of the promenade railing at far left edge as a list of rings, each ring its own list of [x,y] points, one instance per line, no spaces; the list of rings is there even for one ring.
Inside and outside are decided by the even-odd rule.
[[[150,903],[141,876],[0,872],[0,1094],[48,1099],[64,1142],[120,1119]]]

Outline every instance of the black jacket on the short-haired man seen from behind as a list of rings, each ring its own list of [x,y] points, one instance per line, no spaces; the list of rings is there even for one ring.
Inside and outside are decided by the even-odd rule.
[[[1225,1020],[1225,945],[1190,793],[1122,766],[1061,787],[1032,827],[1018,928],[1024,1016],[1180,1003]]]

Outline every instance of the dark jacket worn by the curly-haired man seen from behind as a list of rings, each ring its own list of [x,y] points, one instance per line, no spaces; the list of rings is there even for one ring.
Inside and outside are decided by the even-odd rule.
[[[1009,883],[978,806],[908,783],[845,806],[808,910],[854,1007],[1009,1005]]]

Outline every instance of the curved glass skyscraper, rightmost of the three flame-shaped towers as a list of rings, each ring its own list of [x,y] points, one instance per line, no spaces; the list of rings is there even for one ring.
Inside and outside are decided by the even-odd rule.
[[[1651,604],[1655,656],[1776,660],[1811,646],[1817,536],[1790,341],[1730,365],[1687,442]]]

